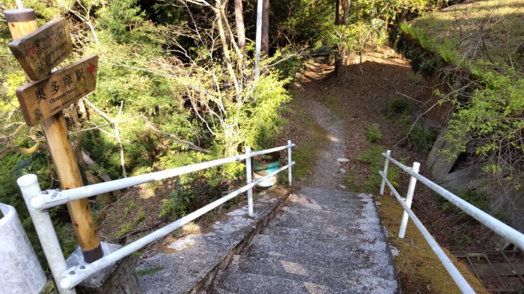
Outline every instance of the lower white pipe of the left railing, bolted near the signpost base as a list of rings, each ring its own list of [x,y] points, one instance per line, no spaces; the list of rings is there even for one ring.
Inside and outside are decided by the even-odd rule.
[[[256,153],[256,152],[254,152]],[[252,153],[252,154],[254,154]],[[247,158],[247,157],[245,157]],[[250,188],[253,188],[255,185],[257,185],[258,183],[260,182],[263,182],[264,180],[268,179],[269,177],[272,177],[272,176],[275,176],[276,174],[278,174],[279,172],[283,171],[284,169],[294,165],[295,163],[294,162],[291,162],[291,165],[286,165],[286,166],[282,166],[280,167],[279,169],[277,169],[276,171],[264,176],[264,177],[261,177],[259,179],[256,179],[254,180],[253,182],[251,182],[250,184],[248,185],[245,185],[244,187],[242,188],[239,188],[235,191],[233,191],[232,193],[218,199],[218,200],[215,200],[211,203],[209,203],[208,205],[198,209],[198,210],[195,210],[191,213],[189,213],[187,216],[181,218],[181,219],[178,219],[177,221],[174,221],[168,225],[166,225],[165,227],[161,228],[161,229],[158,229],[156,230],[155,232],[152,232],[138,240],[136,240],[135,242],[133,243],[130,243],[129,245],[126,245],[122,248],[120,248],[119,250],[113,252],[113,253],[110,253],[110,254],[107,254],[105,255],[104,257],[98,259],[97,261],[93,262],[93,263],[90,263],[90,264],[86,264],[86,265],[82,265],[82,266],[73,266],[67,270],[64,270],[64,272],[62,273],[62,279],[60,281],[60,287],[63,288],[63,289],[70,289],[78,284],[80,284],[80,282],[82,282],[84,279],[88,278],[90,275],[96,273],[96,272],[99,272],[99,270],[107,267],[107,266],[110,266],[111,264],[121,260],[122,258],[132,254],[133,252],[137,251],[137,250],[140,250],[140,248],[146,246],[147,244],[151,243],[151,242],[154,242],[160,238],[162,238],[163,236],[166,236],[168,235],[169,233],[171,233],[172,231],[180,228],[183,224],[186,224],[200,216],[202,216],[204,213],[206,212],[209,212],[211,211],[212,209],[222,205],[223,203],[225,203],[226,201],[228,200],[231,200],[233,199],[234,197],[238,196],[239,194],[242,194],[244,193],[245,191],[247,191],[248,189]]]

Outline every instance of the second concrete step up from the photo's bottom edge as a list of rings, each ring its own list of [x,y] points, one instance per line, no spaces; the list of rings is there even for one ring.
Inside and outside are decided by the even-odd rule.
[[[392,293],[391,289],[396,289],[397,286],[395,280],[380,277],[383,272],[381,268],[358,268],[341,272],[333,268],[239,255],[234,257],[233,267],[238,267],[247,274],[276,276],[333,288],[351,289],[358,293]]]

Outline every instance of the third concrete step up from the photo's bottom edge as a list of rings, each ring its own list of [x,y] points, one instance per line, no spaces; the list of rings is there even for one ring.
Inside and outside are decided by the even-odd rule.
[[[384,252],[372,252],[359,248],[337,251],[316,251],[307,246],[289,247],[282,243],[272,243],[269,238],[256,238],[244,256],[278,259],[305,265],[336,268],[371,268],[389,265],[389,256]]]

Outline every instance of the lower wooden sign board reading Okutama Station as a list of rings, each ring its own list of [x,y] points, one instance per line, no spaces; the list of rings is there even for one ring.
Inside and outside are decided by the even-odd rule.
[[[36,126],[96,87],[98,56],[91,55],[60,69],[41,81],[16,89],[28,126]]]

